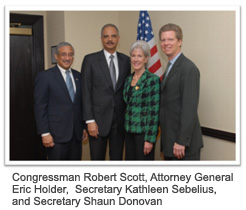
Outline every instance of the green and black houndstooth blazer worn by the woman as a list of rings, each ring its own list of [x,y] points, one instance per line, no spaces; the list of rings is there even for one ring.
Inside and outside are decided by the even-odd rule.
[[[145,141],[155,143],[159,125],[160,78],[146,69],[129,94],[134,74],[126,78],[123,91],[127,105],[125,129],[129,133],[144,133]]]

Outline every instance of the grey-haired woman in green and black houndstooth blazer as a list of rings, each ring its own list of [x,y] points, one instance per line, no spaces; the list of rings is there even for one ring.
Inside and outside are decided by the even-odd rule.
[[[127,77],[123,97],[125,113],[126,160],[154,160],[159,125],[160,79],[147,69],[148,43],[136,41],[130,49],[134,72]]]

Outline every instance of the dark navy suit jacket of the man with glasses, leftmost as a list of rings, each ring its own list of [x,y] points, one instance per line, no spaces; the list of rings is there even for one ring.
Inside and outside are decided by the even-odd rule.
[[[72,102],[66,83],[57,66],[40,72],[35,81],[35,117],[38,134],[50,133],[54,142],[71,140],[75,131],[82,140],[81,74],[72,70],[76,94]]]

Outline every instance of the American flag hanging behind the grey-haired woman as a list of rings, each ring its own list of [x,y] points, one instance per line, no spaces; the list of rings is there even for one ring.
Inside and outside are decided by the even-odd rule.
[[[155,44],[150,17],[147,11],[139,12],[137,40],[143,40],[149,44],[151,57],[149,58],[148,69],[150,72],[161,77],[163,75],[161,61],[158,54],[157,46]]]

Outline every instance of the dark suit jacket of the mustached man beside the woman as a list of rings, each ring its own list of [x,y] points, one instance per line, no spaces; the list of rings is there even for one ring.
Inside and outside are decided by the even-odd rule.
[[[83,117],[84,120],[96,121],[100,136],[109,134],[114,110],[119,131],[124,132],[123,88],[131,65],[128,56],[117,52],[117,58],[119,77],[115,90],[103,50],[86,55],[82,63]]]

